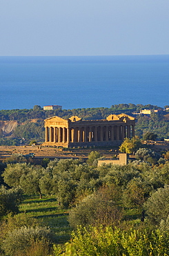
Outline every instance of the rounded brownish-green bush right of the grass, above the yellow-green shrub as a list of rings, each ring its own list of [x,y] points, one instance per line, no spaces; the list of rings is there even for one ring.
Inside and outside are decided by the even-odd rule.
[[[122,217],[122,210],[118,203],[120,197],[121,192],[115,185],[100,188],[70,210],[70,225],[74,228],[78,225],[117,225]]]

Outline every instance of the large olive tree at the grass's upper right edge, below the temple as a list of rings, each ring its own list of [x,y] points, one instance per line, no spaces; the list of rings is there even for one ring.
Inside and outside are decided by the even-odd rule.
[[[98,171],[86,163],[81,164],[73,159],[55,159],[48,163],[46,174],[41,177],[40,188],[45,194],[55,194],[60,205],[68,207],[77,194],[81,194],[80,188],[94,188],[95,182],[91,184],[90,181],[98,177]]]

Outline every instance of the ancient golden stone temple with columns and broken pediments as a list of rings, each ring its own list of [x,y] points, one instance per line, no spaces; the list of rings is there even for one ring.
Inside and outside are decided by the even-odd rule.
[[[85,147],[120,145],[124,138],[135,136],[135,118],[126,114],[110,115],[101,120],[64,119],[53,116],[45,120],[44,146]]]

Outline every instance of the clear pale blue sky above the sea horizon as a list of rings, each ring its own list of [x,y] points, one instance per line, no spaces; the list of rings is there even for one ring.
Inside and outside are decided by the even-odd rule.
[[[169,54],[169,0],[0,0],[0,55]]]

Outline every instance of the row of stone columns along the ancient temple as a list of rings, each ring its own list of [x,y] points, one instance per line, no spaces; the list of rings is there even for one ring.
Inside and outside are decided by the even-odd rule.
[[[46,142],[86,143],[123,140],[135,136],[134,125],[104,125],[85,127],[46,127]]]

